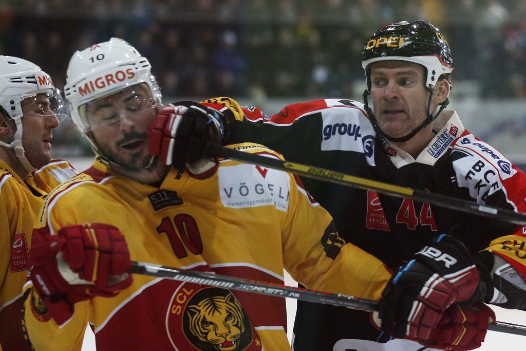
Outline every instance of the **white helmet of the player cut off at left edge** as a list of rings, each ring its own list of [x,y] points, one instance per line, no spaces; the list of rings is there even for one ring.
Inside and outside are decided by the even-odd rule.
[[[37,98],[37,94],[45,94],[47,99],[45,105]],[[0,56],[0,106],[5,116],[12,119],[16,126],[13,141],[11,143],[0,141],[0,146],[14,148],[16,156],[26,171],[31,173],[35,167],[26,158],[22,145],[22,117],[24,116],[22,103],[36,115],[55,115],[59,121],[67,116],[62,95],[47,73],[25,59]]]

